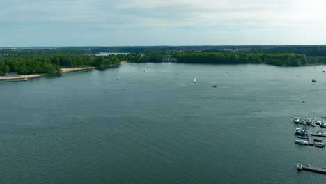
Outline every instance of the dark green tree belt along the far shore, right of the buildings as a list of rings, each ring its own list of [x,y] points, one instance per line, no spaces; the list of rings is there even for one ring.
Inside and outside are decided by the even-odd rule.
[[[181,63],[267,63],[274,66],[300,66],[307,64],[304,54],[281,53],[229,53],[229,52],[196,52],[175,55]]]

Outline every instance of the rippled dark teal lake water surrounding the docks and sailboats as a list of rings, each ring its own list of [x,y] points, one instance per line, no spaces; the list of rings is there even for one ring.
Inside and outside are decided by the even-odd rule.
[[[326,166],[326,150],[294,144],[292,118],[326,116],[324,67],[127,63],[1,82],[0,183],[323,183],[296,169]]]

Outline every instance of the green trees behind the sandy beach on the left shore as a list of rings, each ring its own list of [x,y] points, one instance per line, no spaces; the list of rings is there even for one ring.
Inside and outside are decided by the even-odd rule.
[[[61,67],[81,66],[118,66],[125,56],[86,56],[68,54],[43,54],[37,56],[0,58],[0,75],[8,72],[26,74],[54,74],[61,72]]]

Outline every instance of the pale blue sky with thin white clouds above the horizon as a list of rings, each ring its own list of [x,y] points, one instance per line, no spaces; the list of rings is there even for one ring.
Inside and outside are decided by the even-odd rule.
[[[0,47],[326,44],[325,0],[3,1]]]

